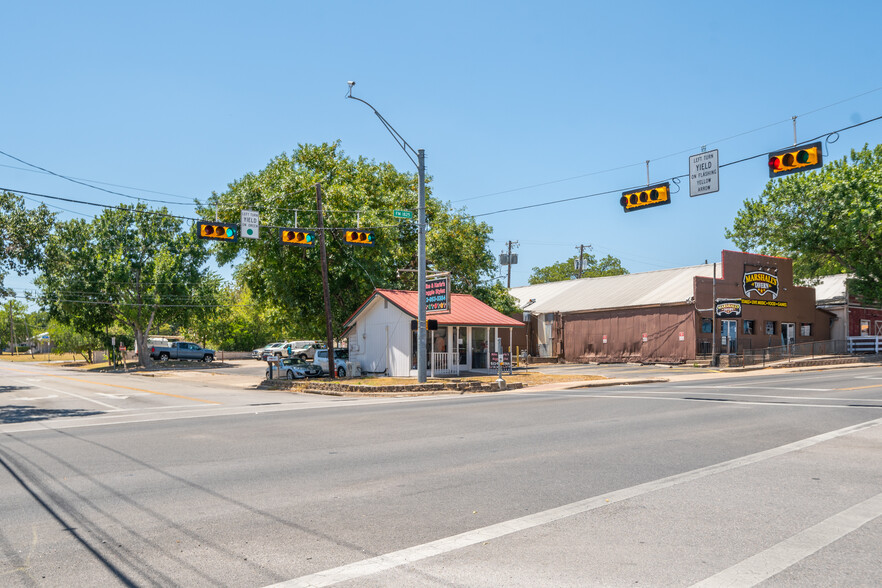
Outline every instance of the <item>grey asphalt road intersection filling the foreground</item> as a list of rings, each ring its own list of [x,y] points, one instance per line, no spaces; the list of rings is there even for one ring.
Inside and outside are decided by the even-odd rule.
[[[390,399],[234,380],[0,364],[0,584],[882,583],[880,368]]]

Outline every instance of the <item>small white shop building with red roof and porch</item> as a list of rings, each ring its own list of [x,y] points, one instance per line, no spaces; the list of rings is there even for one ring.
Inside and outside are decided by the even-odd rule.
[[[427,314],[438,329],[426,339],[429,375],[461,371],[490,373],[490,352],[497,338],[512,340],[512,330],[524,323],[508,317],[468,294],[451,294],[450,312]],[[388,376],[417,375],[418,296],[409,290],[374,290],[343,324],[349,339],[349,360],[363,373]],[[505,351],[509,351],[505,349]]]

